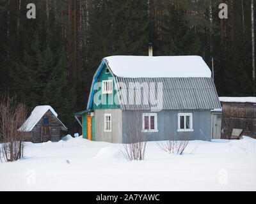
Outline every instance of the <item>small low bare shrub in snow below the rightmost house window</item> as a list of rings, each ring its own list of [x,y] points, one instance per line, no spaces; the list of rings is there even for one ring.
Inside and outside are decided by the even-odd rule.
[[[182,155],[188,146],[189,140],[190,135],[182,135],[179,140],[177,137],[168,136],[166,141],[157,142],[157,145],[160,149],[164,150],[164,152]]]

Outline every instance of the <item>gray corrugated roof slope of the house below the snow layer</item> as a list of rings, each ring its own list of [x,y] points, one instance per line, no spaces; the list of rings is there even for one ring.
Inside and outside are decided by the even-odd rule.
[[[127,92],[137,90],[140,94],[134,94],[138,101],[143,101],[143,91],[141,91],[141,84],[145,84],[150,87],[151,84],[155,84],[154,87],[149,88],[149,94],[151,96],[159,96],[163,92],[163,97],[157,98],[159,103],[163,104],[163,110],[180,110],[180,109],[200,109],[211,110],[214,108],[221,108],[220,100],[216,91],[216,87],[212,78],[123,78],[115,77],[115,88],[118,90],[118,98],[127,96],[131,99],[133,96],[129,96]],[[162,83],[161,86],[157,86],[157,82]],[[133,87],[132,87],[132,86]],[[134,98],[132,98],[134,100]],[[149,110],[152,109],[154,104],[136,104],[127,103],[120,100],[120,108],[122,110]]]

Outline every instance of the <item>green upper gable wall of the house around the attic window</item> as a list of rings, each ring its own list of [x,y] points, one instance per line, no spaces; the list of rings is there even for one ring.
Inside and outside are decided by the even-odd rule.
[[[106,73],[106,69],[108,69],[108,67],[105,65],[104,68],[100,71],[100,75],[97,78],[97,83],[100,82],[100,85],[102,85],[102,80],[113,80],[113,76],[111,75],[110,72]],[[114,89],[115,87],[115,82],[113,80],[113,93],[112,94],[102,94],[102,90],[101,87],[99,87],[99,85],[96,85],[96,91],[95,94],[97,94],[98,92],[100,92],[100,96],[99,99],[101,101],[106,101],[105,104],[95,104],[95,101],[93,100],[93,109],[116,109],[116,108],[120,108],[120,105],[117,105],[115,103],[113,103],[114,101],[114,96],[116,94],[116,90]],[[111,103],[112,101],[112,103]]]

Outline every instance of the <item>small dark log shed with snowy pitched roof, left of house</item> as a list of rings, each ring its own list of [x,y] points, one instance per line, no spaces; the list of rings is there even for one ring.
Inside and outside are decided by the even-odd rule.
[[[58,114],[51,106],[36,106],[28,119],[19,128],[25,131],[25,140],[28,142],[58,142],[61,131],[67,131],[65,125],[58,119]]]

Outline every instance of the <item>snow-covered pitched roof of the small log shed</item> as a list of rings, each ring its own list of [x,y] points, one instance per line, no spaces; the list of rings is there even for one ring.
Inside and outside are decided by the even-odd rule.
[[[49,105],[36,106],[34,110],[31,112],[31,115],[28,117],[28,119],[19,128],[19,131],[28,131],[28,132],[31,131],[48,110],[50,110],[52,114],[56,117],[56,119],[58,119],[58,114],[53,110],[51,106]],[[61,122],[61,124],[63,123]]]

